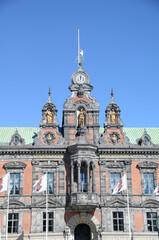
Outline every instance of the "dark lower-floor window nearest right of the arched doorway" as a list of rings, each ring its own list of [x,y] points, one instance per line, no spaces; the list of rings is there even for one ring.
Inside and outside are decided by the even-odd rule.
[[[124,231],[123,212],[113,212],[113,230]]]

